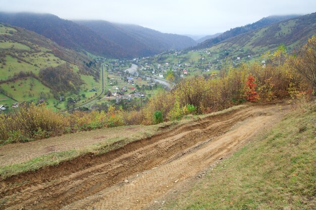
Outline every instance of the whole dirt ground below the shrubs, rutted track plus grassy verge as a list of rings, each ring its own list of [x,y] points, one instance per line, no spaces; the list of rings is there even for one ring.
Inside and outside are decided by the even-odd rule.
[[[287,110],[243,105],[173,124],[106,128],[2,146],[1,193],[6,200],[0,206],[143,209],[238,150]],[[6,150],[10,152],[2,153]]]

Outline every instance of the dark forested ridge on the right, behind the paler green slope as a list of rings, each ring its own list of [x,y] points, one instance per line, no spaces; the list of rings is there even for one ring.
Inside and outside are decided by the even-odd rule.
[[[194,49],[203,49],[203,48],[209,48],[212,47],[213,45],[220,43],[226,39],[229,39],[231,37],[243,34],[243,33],[247,33],[249,31],[253,31],[255,29],[259,29],[268,25],[271,25],[273,23],[277,23],[283,20],[287,20],[287,19],[291,19],[291,18],[295,18],[298,15],[287,15],[287,16],[269,16],[267,18],[262,18],[261,20],[252,23],[252,24],[248,24],[245,26],[241,26],[241,27],[237,27],[237,28],[233,28],[230,29],[229,31],[224,32],[223,34],[215,37],[215,38],[211,38],[211,39],[207,39],[201,43],[199,43],[197,46],[194,47]]]

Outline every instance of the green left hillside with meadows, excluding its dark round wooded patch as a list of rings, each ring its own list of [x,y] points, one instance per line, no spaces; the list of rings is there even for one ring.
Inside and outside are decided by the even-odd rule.
[[[97,71],[96,63],[93,59],[101,60],[100,57],[90,53],[88,53],[88,56],[90,56],[88,57],[86,56],[87,53],[71,52],[42,36],[30,33],[27,30],[5,27],[1,24],[0,36],[2,36],[0,50],[3,49],[5,52],[0,56],[0,80],[11,79],[12,81],[12,77],[20,78],[14,82],[3,82],[1,84],[5,95],[13,97],[18,102],[34,101],[36,103],[39,99],[45,98],[47,107],[58,111],[67,107],[66,99],[68,98],[73,98],[80,104],[89,98],[95,97],[95,94],[99,94],[102,91],[101,82],[94,81],[93,76],[79,72],[79,67],[81,70],[84,70],[85,63],[89,63],[87,71],[93,75],[93,72]],[[78,73],[85,83],[80,87],[78,94],[70,92],[54,93],[54,91],[33,77],[21,78],[23,77],[22,75],[18,76],[20,72],[32,72],[35,76],[38,76],[40,69],[56,67],[66,62],[72,66],[72,71]],[[90,66],[91,63],[93,66]],[[92,88],[96,88],[97,91],[90,92],[89,90]],[[55,94],[56,98],[51,92]],[[60,101],[60,96],[63,96],[65,101]],[[12,101],[6,99],[6,102],[11,106]]]

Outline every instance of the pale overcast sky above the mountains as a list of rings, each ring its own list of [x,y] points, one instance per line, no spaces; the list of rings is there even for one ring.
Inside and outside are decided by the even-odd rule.
[[[0,0],[0,11],[137,24],[165,33],[208,35],[270,15],[316,12],[316,0]]]

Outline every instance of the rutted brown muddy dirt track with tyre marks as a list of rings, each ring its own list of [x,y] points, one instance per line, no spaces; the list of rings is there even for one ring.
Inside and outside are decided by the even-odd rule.
[[[279,121],[287,106],[250,106],[181,125],[101,156],[1,181],[1,209],[143,209]]]

